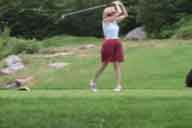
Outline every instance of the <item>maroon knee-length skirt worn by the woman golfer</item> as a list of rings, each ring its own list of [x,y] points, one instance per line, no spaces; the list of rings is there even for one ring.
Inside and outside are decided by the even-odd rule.
[[[105,39],[101,48],[103,63],[123,62],[123,47],[119,39]]]

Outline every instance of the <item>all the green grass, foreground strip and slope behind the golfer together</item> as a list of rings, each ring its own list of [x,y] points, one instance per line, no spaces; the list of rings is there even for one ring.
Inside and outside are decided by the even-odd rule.
[[[54,46],[51,41],[49,47],[70,49],[87,44],[86,38],[80,43],[78,38],[72,43],[58,40],[60,44]],[[32,92],[0,91],[0,128],[192,127],[192,90],[184,87],[192,63],[192,41],[125,42],[125,90],[112,91],[115,79],[109,66],[98,81],[99,91],[91,93],[88,82],[100,63],[101,40],[88,40],[98,48],[51,59],[21,55],[27,68],[16,75],[32,75],[36,84]],[[70,65],[55,70],[48,68],[50,62]]]

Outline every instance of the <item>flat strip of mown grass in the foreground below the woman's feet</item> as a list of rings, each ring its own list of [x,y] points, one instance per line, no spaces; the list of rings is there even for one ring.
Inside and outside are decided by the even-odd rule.
[[[191,90],[2,91],[3,128],[191,128]]]

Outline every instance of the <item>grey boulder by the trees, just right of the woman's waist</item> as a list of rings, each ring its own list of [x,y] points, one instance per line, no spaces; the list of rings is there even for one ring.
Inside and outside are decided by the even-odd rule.
[[[128,40],[144,40],[147,38],[147,34],[144,27],[137,27],[130,31],[125,38]]]

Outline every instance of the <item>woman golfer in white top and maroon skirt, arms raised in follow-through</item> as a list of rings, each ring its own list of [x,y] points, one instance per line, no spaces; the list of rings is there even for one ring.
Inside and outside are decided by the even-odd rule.
[[[113,63],[117,86],[114,91],[122,90],[121,83],[121,65],[124,61],[122,43],[119,40],[118,23],[128,16],[124,5],[120,1],[114,1],[103,11],[103,33],[104,42],[101,48],[102,65],[96,72],[93,80],[90,82],[91,91],[96,92],[96,82],[101,73],[105,70],[109,63]]]

